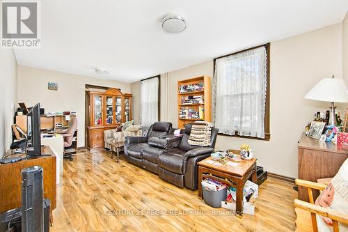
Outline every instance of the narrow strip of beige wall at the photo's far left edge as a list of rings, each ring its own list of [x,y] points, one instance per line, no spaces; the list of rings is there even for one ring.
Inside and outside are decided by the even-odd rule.
[[[13,49],[0,49],[0,157],[12,142],[17,107],[17,61]]]

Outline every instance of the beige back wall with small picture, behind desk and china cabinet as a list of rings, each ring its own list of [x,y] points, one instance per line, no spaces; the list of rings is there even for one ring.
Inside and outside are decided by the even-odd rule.
[[[58,83],[58,91],[49,91],[47,82]],[[40,102],[48,111],[76,111],[79,129],[77,146],[84,146],[85,84],[120,88],[130,93],[130,84],[106,79],[95,79],[65,72],[18,66],[18,102],[33,106]]]

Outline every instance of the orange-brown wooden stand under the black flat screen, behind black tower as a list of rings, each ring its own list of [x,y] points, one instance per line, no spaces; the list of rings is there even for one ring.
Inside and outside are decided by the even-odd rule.
[[[49,146],[42,146],[41,152],[51,156],[0,164],[0,212],[22,206],[21,171],[34,165],[43,168],[44,197],[51,201],[51,210],[56,208],[56,156]]]

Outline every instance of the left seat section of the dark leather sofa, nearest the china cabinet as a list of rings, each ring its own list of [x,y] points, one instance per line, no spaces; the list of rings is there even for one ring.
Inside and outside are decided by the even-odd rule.
[[[146,136],[128,136],[125,138],[125,158],[128,162],[144,167],[143,150],[148,148],[148,139],[151,137],[163,137],[171,132],[172,123],[157,122],[150,126]]]

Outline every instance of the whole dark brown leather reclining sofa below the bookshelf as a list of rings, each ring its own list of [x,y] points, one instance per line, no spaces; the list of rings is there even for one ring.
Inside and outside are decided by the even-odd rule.
[[[157,123],[153,124],[151,127],[152,130],[154,130],[154,128],[159,130],[159,125],[157,125]],[[151,134],[150,137],[146,138],[126,137],[125,157],[132,164],[157,173],[160,178],[174,185],[197,190],[197,163],[209,157],[214,151],[219,129],[212,128],[210,146],[200,147],[192,146],[187,142],[191,133],[191,127],[192,124],[190,123],[182,130],[182,138],[177,138],[172,134],[168,134],[170,129],[167,133],[167,139],[164,139],[166,135],[164,133],[161,135],[157,134],[158,136],[156,137],[151,136]],[[151,133],[150,130],[149,132]]]

